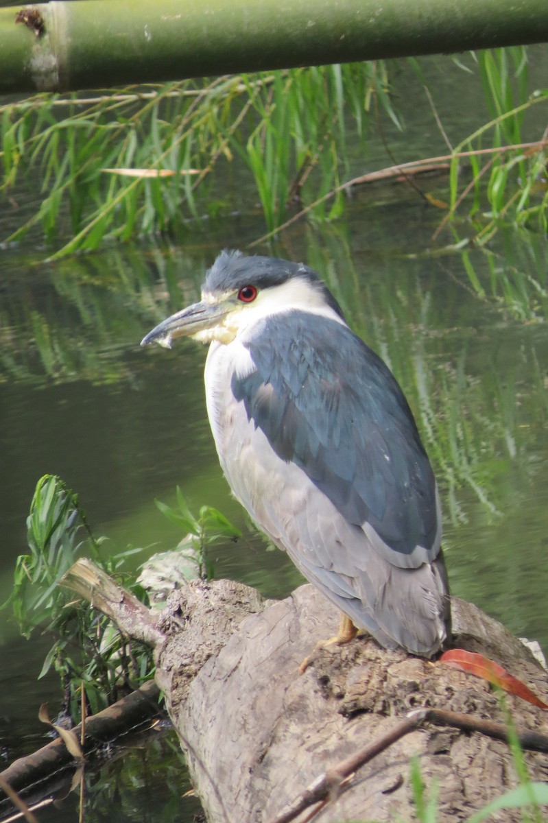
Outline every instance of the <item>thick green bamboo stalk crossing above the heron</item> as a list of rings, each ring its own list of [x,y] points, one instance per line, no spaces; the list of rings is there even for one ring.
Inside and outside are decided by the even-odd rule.
[[[547,0],[67,0],[22,8],[27,19],[18,23],[17,8],[0,9],[0,94],[548,40]]]

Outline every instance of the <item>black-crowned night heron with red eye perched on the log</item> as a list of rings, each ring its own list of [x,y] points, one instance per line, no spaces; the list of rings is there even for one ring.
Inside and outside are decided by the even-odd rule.
[[[434,473],[383,360],[300,263],[223,252],[202,300],[142,345],[210,343],[207,413],[235,497],[378,643],[431,657],[450,634]]]

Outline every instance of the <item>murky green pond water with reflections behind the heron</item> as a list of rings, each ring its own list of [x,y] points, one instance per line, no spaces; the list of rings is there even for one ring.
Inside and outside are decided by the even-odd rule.
[[[439,140],[426,115],[417,107],[410,125],[421,146],[416,156],[433,154],[430,143]],[[369,156],[375,151],[382,165],[377,144]],[[435,181],[427,186],[444,190]],[[0,223],[10,219],[4,212]],[[548,649],[546,239],[509,231],[489,253],[469,251],[485,288],[480,299],[461,254],[428,253],[439,219],[405,185],[376,186],[354,193],[344,221],[298,224],[258,252],[316,268],[352,327],[397,375],[439,478],[453,593]],[[237,544],[215,550],[217,576],[269,597],[300,583],[286,557],[265,551],[248,528],[221,476],[203,398],[205,349],[188,341],[173,351],[138,345],[159,319],[197,299],[221,248],[244,247],[261,234],[250,208],[206,221],[181,240],[112,246],[54,266],[41,263],[38,244],[0,250],[2,599],[16,556],[26,551],[26,514],[45,472],[78,492],[95,534],[109,536],[113,551],[143,547],[136,565],[179,541],[154,504],[172,502],[179,485],[191,506],[214,505],[244,530]],[[447,232],[446,242],[452,238]],[[503,272],[504,289],[493,286],[494,269]],[[0,751],[11,760],[42,745],[39,704],[55,707],[61,695],[54,678],[35,679],[48,639],[21,641],[5,613],[0,631]],[[155,756],[173,764],[170,751]],[[104,786],[112,774],[123,783],[118,772],[95,782]],[[184,788],[181,778],[180,794]],[[104,818],[97,797],[88,820]],[[174,811],[173,802],[165,797],[169,819],[190,819],[193,807],[181,802]],[[158,819],[143,808],[113,800],[109,814]],[[75,809],[67,798],[67,820]]]

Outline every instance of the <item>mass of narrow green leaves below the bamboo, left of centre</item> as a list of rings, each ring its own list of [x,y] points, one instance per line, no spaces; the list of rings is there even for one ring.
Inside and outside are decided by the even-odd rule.
[[[52,241],[68,216],[67,253],[95,249],[105,235],[128,239],[179,225],[181,216],[196,220],[214,200],[210,181],[219,160],[231,161],[234,152],[252,171],[274,229],[291,198],[306,188],[314,199],[338,183],[347,166],[346,103],[360,134],[372,95],[395,117],[386,83],[383,63],[364,63],[221,77],[203,86],[183,81],[145,93],[128,88],[94,99],[36,95],[0,107],[0,190],[10,193],[21,174],[38,170],[43,193],[39,211],[9,239],[39,224]],[[137,176],[110,174],[116,170]],[[205,195],[200,203],[198,192]],[[340,210],[339,196],[327,216]]]

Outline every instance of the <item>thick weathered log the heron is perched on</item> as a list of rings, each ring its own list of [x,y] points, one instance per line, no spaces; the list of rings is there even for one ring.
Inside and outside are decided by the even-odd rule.
[[[91,586],[75,583],[80,564],[88,581],[95,580]],[[97,603],[100,577],[90,569],[89,561],[78,561],[66,582]],[[416,709],[426,709],[420,722],[313,801],[320,819],[411,819],[409,761],[416,756],[427,790],[439,792],[439,821],[465,820],[518,784],[513,757],[504,739],[458,723],[440,727],[439,718],[430,725],[428,709],[433,716],[440,709],[466,715],[478,729],[490,721],[501,737],[506,704],[520,731],[548,734],[542,709],[515,695],[505,695],[503,704],[485,681],[380,649],[372,639],[317,649],[300,677],[303,658],[337,629],[332,607],[309,585],[272,602],[228,580],[194,581],[170,594],[159,615],[138,608],[120,589],[110,599],[103,590],[100,600],[121,630],[153,644],[156,682],[207,819],[216,823],[297,819],[287,814],[307,787],[364,746],[390,737]],[[502,625],[456,598],[453,625],[456,645],[492,658],[548,698],[546,672]],[[546,780],[546,756],[530,751],[525,757],[531,778]],[[519,811],[501,815],[521,820]]]

